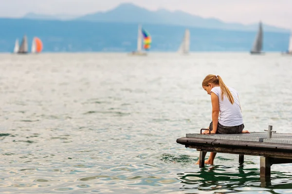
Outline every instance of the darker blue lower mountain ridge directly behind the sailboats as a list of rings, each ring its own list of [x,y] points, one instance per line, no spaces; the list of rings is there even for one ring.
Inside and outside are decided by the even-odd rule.
[[[118,22],[59,21],[0,18],[0,52],[12,52],[15,40],[34,36],[44,52],[131,52],[137,48],[137,24]],[[176,52],[185,27],[145,24],[152,37],[150,52]],[[237,51],[248,53],[256,32],[190,27],[192,52]],[[265,52],[286,51],[289,33],[264,32]]]

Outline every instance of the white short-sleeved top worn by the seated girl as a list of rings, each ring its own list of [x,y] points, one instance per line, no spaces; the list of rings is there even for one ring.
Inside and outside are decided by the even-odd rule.
[[[228,97],[224,95],[223,101],[221,100],[220,87],[214,87],[211,92],[218,96],[219,100],[219,123],[223,126],[238,126],[243,124],[243,117],[240,109],[238,93],[235,89],[227,87],[234,99],[231,104]]]

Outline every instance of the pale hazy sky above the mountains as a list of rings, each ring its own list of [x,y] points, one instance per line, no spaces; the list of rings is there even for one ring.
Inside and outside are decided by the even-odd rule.
[[[292,29],[292,0],[0,0],[0,17],[19,18],[33,12],[82,16],[131,2],[149,10],[180,10],[225,22],[257,23]]]

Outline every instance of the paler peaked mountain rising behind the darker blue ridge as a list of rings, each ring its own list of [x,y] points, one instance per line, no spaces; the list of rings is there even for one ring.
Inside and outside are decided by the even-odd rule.
[[[97,12],[76,19],[83,21],[169,24],[223,30],[256,31],[258,29],[257,23],[251,25],[226,23],[216,18],[201,18],[199,16],[187,14],[182,11],[170,12],[165,9],[149,11],[131,3],[123,3],[110,11]],[[289,32],[288,29],[278,28],[265,24],[263,25],[263,28],[265,31],[271,32]]]

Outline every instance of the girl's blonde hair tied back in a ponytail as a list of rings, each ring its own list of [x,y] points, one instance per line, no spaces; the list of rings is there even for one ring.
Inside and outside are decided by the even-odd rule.
[[[212,75],[212,74],[207,75],[202,82],[202,86],[208,86],[209,83],[219,85],[221,89],[221,100],[223,100],[223,96],[226,95],[230,103],[231,104],[234,103],[234,99],[230,90],[224,84],[224,82],[222,81],[222,78],[219,75]]]

